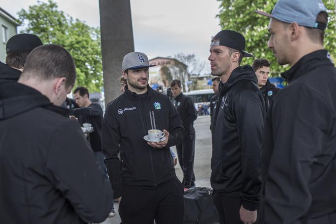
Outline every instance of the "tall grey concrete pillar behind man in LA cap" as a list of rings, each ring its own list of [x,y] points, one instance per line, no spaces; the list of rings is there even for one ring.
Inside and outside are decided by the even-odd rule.
[[[134,42],[129,0],[99,0],[99,11],[106,105],[122,93],[118,78]]]

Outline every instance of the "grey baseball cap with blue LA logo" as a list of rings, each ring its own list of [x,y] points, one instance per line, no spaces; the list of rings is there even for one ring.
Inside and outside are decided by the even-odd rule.
[[[155,65],[150,65],[147,55],[141,52],[130,52],[125,55],[123,60],[123,71],[152,66]]]

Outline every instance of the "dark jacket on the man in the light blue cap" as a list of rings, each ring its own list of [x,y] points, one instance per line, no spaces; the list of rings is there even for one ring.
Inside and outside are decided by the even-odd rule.
[[[328,55],[314,51],[283,73],[289,85],[268,111],[265,224],[305,224],[336,211],[336,68]]]

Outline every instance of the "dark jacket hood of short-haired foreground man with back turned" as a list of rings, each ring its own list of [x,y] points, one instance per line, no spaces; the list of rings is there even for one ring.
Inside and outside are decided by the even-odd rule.
[[[68,110],[53,105],[38,90],[16,82],[0,82],[0,120],[32,110],[45,107],[56,113],[66,115]]]

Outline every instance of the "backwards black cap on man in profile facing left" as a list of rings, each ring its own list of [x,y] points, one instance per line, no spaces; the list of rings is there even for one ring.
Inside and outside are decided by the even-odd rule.
[[[245,38],[242,34],[233,30],[222,30],[213,37],[211,45],[227,46],[244,53],[243,57],[254,57],[253,54],[245,51]]]

